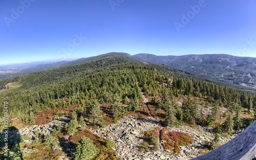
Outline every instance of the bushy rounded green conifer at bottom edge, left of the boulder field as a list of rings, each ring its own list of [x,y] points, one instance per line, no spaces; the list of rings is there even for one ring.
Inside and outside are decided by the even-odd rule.
[[[93,141],[86,136],[82,136],[74,151],[75,159],[90,160],[98,154],[98,149],[93,145]]]

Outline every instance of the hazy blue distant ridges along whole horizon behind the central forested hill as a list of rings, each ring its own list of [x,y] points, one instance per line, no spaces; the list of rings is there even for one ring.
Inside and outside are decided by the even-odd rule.
[[[256,58],[237,57],[226,54],[157,56],[154,54],[140,53],[132,56],[128,53],[110,52],[98,56],[80,58],[73,61],[60,61],[50,64],[44,63],[33,65],[28,68],[21,68],[15,72],[10,69],[10,73],[0,73],[0,79],[12,78],[31,72],[83,63],[108,55],[120,55],[144,62],[166,64],[199,77],[256,88]],[[1,66],[0,71],[1,70],[4,71],[5,68]],[[5,72],[6,71],[8,70],[5,70]]]

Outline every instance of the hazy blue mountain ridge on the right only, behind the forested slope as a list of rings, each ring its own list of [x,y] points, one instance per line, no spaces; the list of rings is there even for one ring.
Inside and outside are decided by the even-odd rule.
[[[166,64],[200,77],[256,88],[256,58],[226,54],[156,56],[145,53],[133,57]]]

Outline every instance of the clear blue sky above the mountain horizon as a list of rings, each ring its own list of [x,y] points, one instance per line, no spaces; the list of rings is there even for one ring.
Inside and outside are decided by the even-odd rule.
[[[254,0],[1,0],[0,65],[108,52],[256,57],[255,6]]]

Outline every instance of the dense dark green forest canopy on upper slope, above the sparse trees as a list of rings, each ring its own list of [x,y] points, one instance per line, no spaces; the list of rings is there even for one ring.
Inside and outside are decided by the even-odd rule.
[[[201,94],[212,101],[241,101],[243,107],[248,106],[248,99],[252,100],[255,94],[253,90],[225,86],[170,66],[145,63],[126,56],[105,55],[79,64],[1,80],[0,101],[8,102],[9,115],[13,118],[28,114],[30,107],[36,113],[41,108],[67,106],[78,100],[112,103],[115,94],[122,99],[141,99],[137,81],[146,93],[153,96],[161,94],[166,87],[174,96],[178,92],[186,96]],[[6,86],[8,83],[20,86],[9,87]],[[56,99],[65,101],[56,104],[53,101]],[[1,109],[3,107],[1,105]]]

